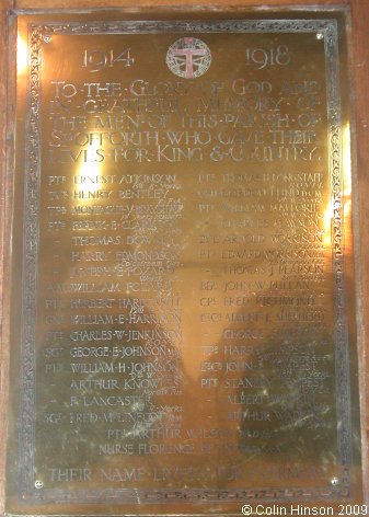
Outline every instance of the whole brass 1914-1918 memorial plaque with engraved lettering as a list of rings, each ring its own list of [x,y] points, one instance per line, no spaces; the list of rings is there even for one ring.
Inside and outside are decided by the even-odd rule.
[[[10,514],[362,503],[345,23],[18,16]]]

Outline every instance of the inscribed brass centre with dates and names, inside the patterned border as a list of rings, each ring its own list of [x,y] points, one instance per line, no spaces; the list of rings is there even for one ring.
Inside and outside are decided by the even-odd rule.
[[[336,429],[318,36],[203,34],[184,50],[178,34],[70,36],[69,57],[65,36],[43,42],[45,487],[334,475],[334,455],[320,460]]]

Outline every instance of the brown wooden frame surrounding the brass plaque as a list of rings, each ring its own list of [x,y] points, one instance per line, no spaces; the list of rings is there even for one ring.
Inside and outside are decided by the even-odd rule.
[[[334,0],[268,0],[267,5],[257,0],[233,0],[231,5],[227,0],[200,0],[196,8],[210,7],[227,10],[230,8],[288,8],[301,5],[337,5]],[[354,185],[355,185],[355,253],[356,253],[356,291],[357,291],[357,322],[359,355],[361,361],[361,422],[362,422],[362,448],[364,448],[364,479],[367,482],[366,494],[369,504],[368,490],[368,438],[369,438],[369,208],[367,207],[367,193],[369,192],[369,4],[368,0],[345,0],[341,2],[350,11],[351,34],[350,39],[350,65],[353,80],[353,120],[354,120]],[[7,347],[8,335],[8,308],[9,300],[3,296],[3,285],[9,282],[10,271],[7,262],[10,242],[10,216],[11,216],[11,179],[13,150],[13,110],[14,110],[14,62],[11,54],[11,44],[14,38],[12,32],[12,13],[24,11],[49,11],[49,10],[92,10],[106,8],[158,8],[153,0],[137,0],[135,4],[125,0],[2,0],[0,3],[0,514],[3,513],[3,481],[5,473],[5,434],[7,434],[7,400],[8,400],[8,368],[9,349]],[[195,5],[193,0],[161,0],[163,8],[191,8]],[[356,162],[356,163],[355,163]],[[355,171],[356,169],[356,171]],[[2,282],[1,282],[2,280]]]

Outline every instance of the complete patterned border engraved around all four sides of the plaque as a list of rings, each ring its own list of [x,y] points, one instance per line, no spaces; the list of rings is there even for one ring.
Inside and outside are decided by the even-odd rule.
[[[336,486],[322,489],[253,490],[77,490],[34,489],[36,294],[38,258],[38,209],[42,134],[42,43],[53,34],[149,34],[149,33],[321,33],[324,37],[330,152],[331,203],[333,206],[333,273],[335,315],[335,368],[337,456],[341,478]],[[164,504],[241,503],[253,501],[331,501],[350,495],[353,462],[348,329],[343,251],[342,115],[339,100],[338,34],[335,20],[242,21],[105,21],[50,22],[28,25],[30,74],[27,82],[25,222],[22,299],[22,372],[19,432],[19,490],[23,502],[54,504]]]

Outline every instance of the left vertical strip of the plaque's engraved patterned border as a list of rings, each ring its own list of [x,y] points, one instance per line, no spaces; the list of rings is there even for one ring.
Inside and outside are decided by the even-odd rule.
[[[35,386],[38,211],[41,181],[42,33],[28,32],[30,76],[27,82],[26,174],[24,185],[23,299],[21,334],[21,407],[19,427],[19,484],[25,495],[34,486]]]

